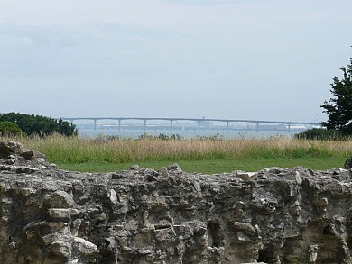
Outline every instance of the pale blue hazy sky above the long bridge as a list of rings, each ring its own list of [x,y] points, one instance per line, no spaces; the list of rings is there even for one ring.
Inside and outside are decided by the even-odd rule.
[[[0,0],[0,113],[320,122],[350,0]]]

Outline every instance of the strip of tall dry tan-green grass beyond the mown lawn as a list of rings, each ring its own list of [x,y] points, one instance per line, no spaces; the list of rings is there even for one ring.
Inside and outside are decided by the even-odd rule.
[[[260,140],[161,140],[64,137],[0,138],[19,141],[55,163],[126,163],[146,160],[236,158],[304,158],[352,155],[352,141],[307,141],[288,138]]]

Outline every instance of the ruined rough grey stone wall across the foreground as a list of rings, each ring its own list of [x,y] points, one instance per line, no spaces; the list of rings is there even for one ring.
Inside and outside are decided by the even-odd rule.
[[[78,173],[0,141],[0,263],[351,263],[351,178]]]

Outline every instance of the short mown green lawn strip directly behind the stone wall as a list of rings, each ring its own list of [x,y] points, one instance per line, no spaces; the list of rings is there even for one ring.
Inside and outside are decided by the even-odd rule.
[[[346,158],[347,159],[347,158]],[[178,163],[183,171],[214,174],[221,172],[231,172],[233,170],[258,171],[263,168],[281,167],[294,168],[302,166],[311,169],[342,168],[346,159],[344,158],[255,158],[255,159],[209,159],[209,160],[174,160],[174,161],[140,161],[132,163],[79,163],[79,164],[57,164],[61,169],[88,172],[112,172],[139,165],[144,168],[159,170],[162,167]]]

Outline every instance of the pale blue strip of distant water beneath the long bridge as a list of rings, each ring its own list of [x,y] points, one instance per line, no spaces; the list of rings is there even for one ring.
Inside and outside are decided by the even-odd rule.
[[[179,135],[181,138],[190,139],[195,137],[212,137],[218,136],[222,139],[234,139],[234,140],[245,140],[245,139],[268,139],[271,137],[288,137],[292,138],[294,134],[301,132],[301,130],[288,131],[226,131],[226,130],[165,130],[165,129],[134,129],[119,131],[118,129],[94,129],[79,128],[79,136],[81,137],[97,137],[98,135],[110,135],[118,136],[119,138],[138,138],[146,132],[147,135],[159,136],[164,134],[167,136]]]

